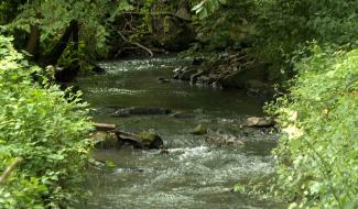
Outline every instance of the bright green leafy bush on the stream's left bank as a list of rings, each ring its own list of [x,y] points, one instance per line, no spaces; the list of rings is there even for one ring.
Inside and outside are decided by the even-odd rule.
[[[23,162],[0,187],[0,208],[66,208],[80,195],[90,148],[86,103],[31,78],[41,69],[0,35],[0,173]]]

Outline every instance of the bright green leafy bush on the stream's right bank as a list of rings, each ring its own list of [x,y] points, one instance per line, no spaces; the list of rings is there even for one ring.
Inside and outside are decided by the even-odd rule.
[[[292,208],[357,208],[358,50],[312,53],[295,64],[290,94],[269,106],[283,132],[276,191]]]

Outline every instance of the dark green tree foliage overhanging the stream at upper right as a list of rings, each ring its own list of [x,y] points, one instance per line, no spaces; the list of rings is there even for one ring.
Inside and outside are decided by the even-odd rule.
[[[270,65],[271,80],[294,75],[290,61],[306,42],[343,45],[358,38],[356,0],[203,0],[193,10],[206,50],[253,46],[257,62]]]

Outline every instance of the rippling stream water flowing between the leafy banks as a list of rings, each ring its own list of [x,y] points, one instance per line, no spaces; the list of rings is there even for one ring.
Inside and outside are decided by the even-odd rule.
[[[89,169],[86,209],[109,208],[279,208],[279,205],[232,191],[237,183],[272,173],[269,155],[274,134],[241,129],[248,116],[262,116],[260,99],[241,91],[223,91],[160,84],[189,61],[156,58],[102,63],[106,75],[78,79],[85,98],[97,109],[96,122],[116,123],[128,132],[154,129],[167,152],[132,148],[98,150],[94,157],[113,162],[113,169]],[[191,117],[132,116],[112,118],[115,107],[166,108]],[[213,143],[189,132],[199,123],[211,132],[245,143]]]

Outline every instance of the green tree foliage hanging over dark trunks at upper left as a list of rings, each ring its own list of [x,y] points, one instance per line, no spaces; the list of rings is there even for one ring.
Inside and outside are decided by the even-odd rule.
[[[12,20],[7,15],[3,24],[13,32],[30,33],[31,25],[40,26],[43,53],[57,43],[70,21],[77,20],[79,38],[86,43],[87,53],[102,56],[108,51],[109,24],[123,11],[133,9],[127,0],[33,0],[17,1],[17,4],[11,0],[4,1],[1,8],[12,8],[15,18]]]

